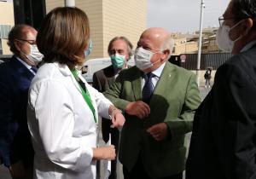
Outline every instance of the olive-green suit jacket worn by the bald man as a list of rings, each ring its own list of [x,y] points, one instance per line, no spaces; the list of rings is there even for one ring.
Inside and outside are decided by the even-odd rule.
[[[119,73],[104,95],[124,110],[130,101],[142,101],[142,75],[136,66]],[[119,147],[119,159],[128,170],[137,162],[139,153],[151,177],[172,176],[184,170],[185,134],[192,130],[195,109],[200,104],[195,74],[166,62],[155,86],[147,118],[125,113]],[[146,131],[150,126],[166,122],[170,136],[155,141]]]

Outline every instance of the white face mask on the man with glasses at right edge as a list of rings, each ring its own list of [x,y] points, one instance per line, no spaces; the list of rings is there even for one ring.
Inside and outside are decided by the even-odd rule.
[[[234,44],[236,43],[237,40],[239,40],[241,37],[236,38],[236,40],[231,40],[230,39],[230,31],[235,28],[236,26],[238,26],[243,20],[240,20],[239,22],[236,23],[236,25],[230,27],[230,26],[219,26],[218,27],[218,31],[216,34],[216,40],[218,43],[218,48],[222,49],[224,51],[227,52],[231,52]]]

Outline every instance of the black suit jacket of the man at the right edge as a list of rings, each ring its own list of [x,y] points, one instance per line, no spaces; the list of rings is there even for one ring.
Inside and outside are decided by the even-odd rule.
[[[256,178],[256,47],[218,68],[195,113],[187,179]]]

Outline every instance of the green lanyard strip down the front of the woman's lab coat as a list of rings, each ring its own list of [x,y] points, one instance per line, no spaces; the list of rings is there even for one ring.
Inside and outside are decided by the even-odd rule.
[[[78,82],[79,84],[79,75],[78,75],[78,71],[77,70],[71,70],[72,74],[73,74],[73,77],[76,79],[76,81]],[[82,88],[82,86],[79,84],[79,88],[80,90],[82,91],[82,95],[84,97],[84,101],[87,103],[87,105],[90,107],[90,111],[91,113],[93,113],[93,117],[94,117],[94,122],[96,123],[97,122],[97,119],[96,119],[96,114],[95,114],[95,108],[93,107],[92,103],[91,103],[91,100],[90,100],[90,94],[89,94],[89,91]],[[84,91],[85,90],[85,91]]]

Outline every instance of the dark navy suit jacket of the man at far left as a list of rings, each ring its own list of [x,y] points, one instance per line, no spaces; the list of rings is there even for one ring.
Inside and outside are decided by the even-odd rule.
[[[0,158],[6,166],[19,160],[32,165],[26,104],[33,77],[15,56],[0,65]]]

